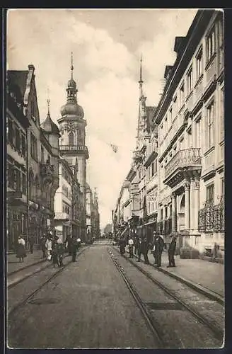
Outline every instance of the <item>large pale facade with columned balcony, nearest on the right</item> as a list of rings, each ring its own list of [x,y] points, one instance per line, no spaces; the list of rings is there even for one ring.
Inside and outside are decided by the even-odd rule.
[[[224,18],[198,11],[166,67],[158,125],[158,221],[179,247],[224,249]],[[182,235],[182,236],[181,236]]]

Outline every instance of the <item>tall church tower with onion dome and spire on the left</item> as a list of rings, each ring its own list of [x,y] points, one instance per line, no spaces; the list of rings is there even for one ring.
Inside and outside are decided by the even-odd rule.
[[[68,161],[70,166],[76,166],[77,178],[80,184],[81,193],[86,195],[86,160],[88,159],[88,148],[85,145],[86,140],[86,120],[81,105],[76,99],[76,81],[73,78],[73,59],[71,55],[71,79],[69,79],[66,93],[66,104],[62,106],[61,117],[57,120],[59,123],[59,152]],[[83,209],[86,210],[86,198],[83,198]],[[85,218],[86,219],[86,218]],[[86,238],[86,224],[82,226],[82,235]]]

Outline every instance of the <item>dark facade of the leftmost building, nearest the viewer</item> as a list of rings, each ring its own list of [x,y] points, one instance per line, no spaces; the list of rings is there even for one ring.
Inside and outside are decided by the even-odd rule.
[[[13,251],[19,234],[28,239],[28,127],[23,95],[8,72],[6,107],[6,219],[7,250]]]

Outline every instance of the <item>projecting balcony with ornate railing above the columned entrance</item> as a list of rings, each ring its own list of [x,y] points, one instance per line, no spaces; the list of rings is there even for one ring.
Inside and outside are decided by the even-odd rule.
[[[191,173],[193,170],[201,170],[202,161],[200,156],[200,149],[190,148],[177,152],[173,158],[165,166],[164,183],[173,186],[173,183],[180,182],[185,178],[185,173]]]

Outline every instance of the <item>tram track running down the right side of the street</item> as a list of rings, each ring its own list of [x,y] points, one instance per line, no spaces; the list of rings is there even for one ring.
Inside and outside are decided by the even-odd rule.
[[[139,297],[137,290],[135,290],[134,285],[132,284],[132,282],[127,277],[127,274],[126,274],[125,270],[121,269],[122,267],[120,266],[120,263],[116,260],[115,254],[112,252],[112,250],[115,250],[117,252],[118,256],[124,258],[128,263],[131,263],[132,265],[134,265],[134,267],[137,268],[141,273],[143,273],[147,279],[151,280],[151,282],[153,282],[154,285],[159,287],[161,290],[163,290],[163,292],[166,293],[166,295],[168,295],[170,298],[175,300],[175,302],[180,304],[180,306],[183,309],[185,309],[185,311],[187,311],[188,313],[192,314],[192,316],[194,316],[195,319],[197,319],[197,321],[199,321],[201,324],[203,324],[205,327],[207,327],[207,329],[209,329],[211,331],[211,333],[214,335],[214,337],[217,340],[219,340],[219,341],[223,340],[223,338],[224,338],[224,330],[223,329],[219,328],[219,326],[214,324],[213,321],[210,321],[209,319],[207,319],[206,316],[203,316],[199,311],[197,311],[196,308],[194,308],[189,303],[187,303],[185,300],[183,300],[181,297],[176,295],[173,292],[173,290],[170,290],[166,285],[164,285],[161,281],[159,281],[156,278],[154,278],[153,275],[151,275],[146,270],[141,268],[141,266],[139,266],[136,263],[134,263],[130,258],[127,258],[126,256],[121,256],[119,250],[116,250],[115,248],[112,248],[112,246],[108,247],[108,252],[110,252],[112,260],[115,262],[115,265],[117,263],[117,265],[116,265],[117,269],[120,271],[120,274],[122,275],[122,278],[126,282],[127,287],[129,287],[130,292],[132,292],[134,294],[133,297],[137,298],[136,301],[139,304],[139,308],[142,307],[143,308],[142,312],[145,311],[145,316],[148,317],[148,319],[149,319],[148,322],[151,322],[151,324],[149,324],[149,326],[153,326],[153,331],[158,333],[158,329],[156,327],[156,324],[153,324],[153,321],[151,321],[151,316],[149,314],[149,310],[146,308],[146,304],[143,304],[143,301]],[[155,268],[155,267],[153,267],[153,268]],[[163,274],[163,275],[165,275],[165,274]],[[168,276],[168,275],[166,275],[166,276]],[[185,285],[185,286],[187,287],[187,285]],[[197,293],[197,290],[192,290],[191,288],[190,288],[190,290],[193,293]],[[199,294],[204,297],[204,295],[202,295],[200,292],[199,292]],[[205,296],[205,298],[207,298],[207,297]],[[161,338],[161,334],[158,334],[158,337]]]

